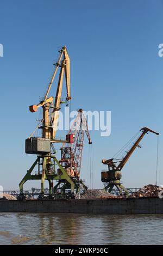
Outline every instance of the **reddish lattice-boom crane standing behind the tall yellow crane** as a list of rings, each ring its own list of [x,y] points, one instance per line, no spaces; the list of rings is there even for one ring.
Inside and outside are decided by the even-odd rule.
[[[72,127],[68,132],[69,136],[72,136],[73,143],[64,143],[61,147],[61,160],[59,161],[61,166],[66,170],[67,174],[73,179],[76,184],[76,193],[79,191],[86,191],[87,187],[80,179],[80,168],[82,164],[84,133],[86,133],[89,144],[92,144],[87,120],[83,113],[83,109],[78,110],[77,117],[74,119]],[[67,135],[67,136],[68,136]],[[60,190],[68,188],[67,182],[61,181],[54,187],[54,193],[57,191],[58,186]]]

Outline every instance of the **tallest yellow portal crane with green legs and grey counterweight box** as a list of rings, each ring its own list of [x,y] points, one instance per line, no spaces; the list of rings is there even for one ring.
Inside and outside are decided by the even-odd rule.
[[[37,159],[33,163],[32,167],[27,170],[26,175],[20,182],[20,192],[23,197],[23,184],[27,180],[41,180],[41,192],[42,195],[44,193],[44,181],[48,180],[49,182],[49,193],[52,194],[53,188],[53,180],[66,180],[71,187],[71,193],[74,192],[75,184],[70,176],[66,173],[66,170],[61,166],[59,161],[55,156],[55,148],[54,143],[68,143],[72,140],[71,136],[66,136],[65,140],[57,139],[55,137],[58,125],[59,118],[59,109],[62,103],[66,103],[71,100],[70,95],[70,58],[67,53],[67,48],[64,46],[61,48],[60,56],[58,58],[58,62],[54,64],[54,72],[52,79],[49,83],[47,92],[37,105],[32,105],[29,107],[30,112],[36,112],[38,108],[42,107],[42,120],[39,125],[37,125],[36,129],[26,139],[26,153],[27,154],[37,154]],[[57,70],[60,68],[59,80],[57,93],[55,96],[55,101],[53,96],[48,97],[49,92],[52,87],[52,83],[54,81],[54,77],[57,74]],[[67,97],[66,101],[61,100],[62,94],[62,83],[63,77],[65,73],[66,78],[66,89],[67,89]],[[53,103],[54,101],[54,103]],[[34,133],[37,129],[42,129],[41,137],[34,137]],[[67,140],[68,139],[68,140]],[[55,170],[55,166],[58,166],[58,170]],[[35,174],[32,174],[34,168],[37,167]]]

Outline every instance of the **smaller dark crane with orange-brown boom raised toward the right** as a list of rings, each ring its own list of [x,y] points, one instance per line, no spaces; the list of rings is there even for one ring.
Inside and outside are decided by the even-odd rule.
[[[122,174],[121,174],[122,168],[127,163],[127,161],[129,160],[129,157],[131,156],[131,154],[133,154],[134,150],[137,147],[141,148],[139,143],[146,133],[152,132],[152,133],[155,133],[156,135],[159,135],[158,132],[155,132],[147,127],[143,127],[142,129],[140,129],[140,131],[141,131],[141,135],[136,139],[136,142],[129,149],[129,151],[127,152],[126,156],[123,157],[123,159],[118,160],[118,159],[112,158],[108,160],[105,160],[105,159],[102,160],[103,164],[108,165],[109,170],[103,171],[101,173],[101,180],[102,182],[104,182],[104,184],[106,184],[106,186],[104,187],[104,190],[108,191],[109,193],[112,191],[114,186],[116,186],[120,194],[122,194],[122,190],[125,191],[127,195],[129,194],[129,191],[127,190],[127,188],[122,186],[122,183],[120,182],[120,179],[122,178]]]

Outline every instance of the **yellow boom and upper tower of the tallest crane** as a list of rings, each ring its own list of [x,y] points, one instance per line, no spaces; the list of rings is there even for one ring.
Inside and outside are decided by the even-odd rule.
[[[39,102],[37,105],[32,105],[29,107],[30,112],[36,112],[37,108],[42,107],[43,108],[43,131],[42,136],[43,138],[51,138],[52,140],[55,139],[55,133],[57,131],[57,125],[58,125],[58,119],[59,119],[59,109],[61,101],[61,94],[62,94],[62,84],[63,84],[63,78],[64,78],[64,72],[65,72],[65,80],[66,80],[66,90],[67,90],[67,97],[66,100],[71,100],[70,95],[70,58],[67,53],[66,46],[62,47],[60,52],[60,56],[58,59],[58,62],[54,65],[56,66],[53,76],[51,79],[51,82],[49,83],[46,95],[42,101]],[[63,59],[62,59],[63,57]],[[62,59],[62,60],[61,60]],[[55,102],[53,106],[53,97],[48,97],[49,91],[52,87],[52,83],[54,81],[54,77],[57,74],[57,70],[60,67],[60,74],[59,74],[59,80],[58,80],[58,87],[57,87],[57,93],[55,95]],[[50,108],[53,109],[51,113]],[[51,116],[51,118],[50,118]],[[50,125],[51,123],[51,125]]]

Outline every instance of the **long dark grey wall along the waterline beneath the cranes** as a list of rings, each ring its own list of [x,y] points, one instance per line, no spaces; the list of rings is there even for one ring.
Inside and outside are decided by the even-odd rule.
[[[163,199],[61,199],[0,200],[0,212],[49,212],[72,214],[163,214]]]

